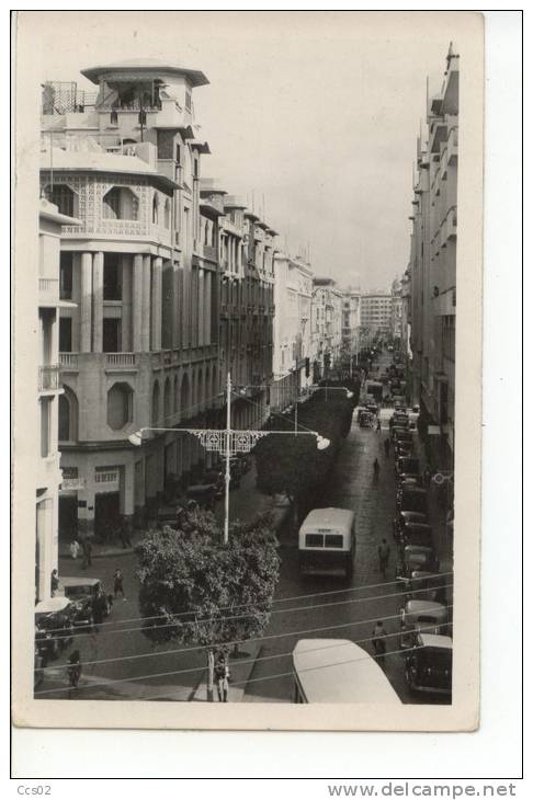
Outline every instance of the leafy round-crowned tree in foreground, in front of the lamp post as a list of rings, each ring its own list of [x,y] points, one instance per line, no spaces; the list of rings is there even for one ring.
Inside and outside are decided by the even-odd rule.
[[[259,636],[270,620],[280,575],[277,539],[268,514],[235,523],[229,542],[209,512],[183,515],[180,529],[149,532],[136,548],[139,607],[150,641],[206,648],[213,699],[215,651]]]

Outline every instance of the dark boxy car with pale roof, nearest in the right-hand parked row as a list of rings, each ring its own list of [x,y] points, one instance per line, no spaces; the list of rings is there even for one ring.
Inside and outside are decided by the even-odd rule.
[[[452,694],[452,639],[435,633],[417,633],[406,652],[406,681],[411,692]]]

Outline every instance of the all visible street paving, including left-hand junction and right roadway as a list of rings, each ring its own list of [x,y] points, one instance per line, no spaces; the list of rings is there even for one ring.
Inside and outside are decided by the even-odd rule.
[[[379,361],[382,370],[389,364],[388,354]],[[349,587],[334,579],[302,578],[298,570],[297,536],[286,528],[281,534],[282,570],[274,610],[264,638],[258,643],[259,652],[247,682],[245,701],[287,702],[292,700],[293,679],[291,653],[299,638],[347,638],[360,642],[372,652],[370,637],[377,619],[383,619],[388,633],[398,630],[398,612],[402,595],[394,580],[395,541],[392,521],[395,510],[394,458],[385,457],[383,442],[387,436],[386,420],[389,409],[382,410],[383,430],[360,428],[356,413],[334,470],[329,481],[328,500],[331,505],[355,511],[356,555],[355,570]],[[420,448],[417,445],[418,450]],[[373,479],[373,461],[378,458],[379,480]],[[433,505],[433,504],[432,504]],[[241,488],[231,493],[231,511],[247,517],[258,510],[272,507],[272,500],[254,489],[254,470],[248,472]],[[217,510],[219,511],[219,510]],[[280,510],[275,513],[280,516]],[[432,517],[435,522],[435,510]],[[451,565],[451,552],[445,526],[435,526],[442,571]],[[377,546],[382,538],[390,546],[390,561],[385,580],[378,571]],[[92,565],[81,569],[81,560],[61,558],[60,574],[100,578],[107,592],[113,590],[113,573],[123,571],[126,598],[118,597],[112,613],[97,632],[78,632],[76,647],[84,663],[80,688],[76,697],[174,699],[190,700],[202,679],[205,656],[201,650],[186,650],[175,642],[152,649],[140,632],[135,569],[137,560],[132,551],[102,556]],[[66,651],[68,655],[71,649]],[[383,668],[404,702],[427,702],[411,696],[404,678],[404,656],[396,652],[396,637],[387,643]],[[175,652],[181,651],[181,652]],[[46,678],[38,687],[44,698],[69,697],[66,690],[66,658],[53,662]],[[55,689],[55,690],[54,690]],[[54,690],[50,694],[50,690]],[[72,693],[70,693],[72,696]],[[431,698],[431,702],[439,698]]]

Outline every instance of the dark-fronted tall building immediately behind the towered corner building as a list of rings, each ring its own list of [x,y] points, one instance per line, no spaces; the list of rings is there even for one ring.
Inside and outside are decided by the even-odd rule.
[[[235,196],[220,217],[219,345],[224,379],[235,387],[236,428],[257,428],[269,414],[276,232]]]

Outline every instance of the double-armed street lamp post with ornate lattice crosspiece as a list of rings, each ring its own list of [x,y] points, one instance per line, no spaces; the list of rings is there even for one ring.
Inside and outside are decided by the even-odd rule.
[[[264,436],[270,436],[271,433],[288,436],[315,436],[317,441],[317,448],[325,450],[329,447],[329,439],[320,436],[317,431],[233,431],[231,430],[231,376],[228,373],[227,387],[227,411],[226,411],[226,430],[220,431],[218,428],[206,428],[206,427],[141,427],[131,436],[128,441],[136,447],[140,447],[143,444],[143,434],[145,432],[151,433],[189,433],[195,436],[201,445],[212,453],[218,453],[224,455],[226,458],[226,475],[225,475],[225,501],[224,501],[224,544],[227,545],[229,540],[229,482],[231,479],[230,473],[230,457],[237,453],[249,453]]]

